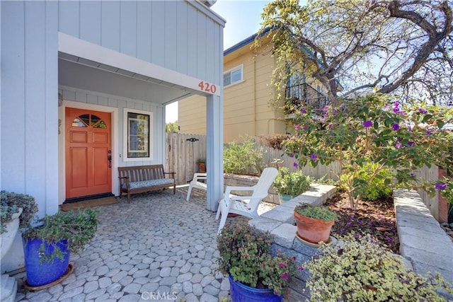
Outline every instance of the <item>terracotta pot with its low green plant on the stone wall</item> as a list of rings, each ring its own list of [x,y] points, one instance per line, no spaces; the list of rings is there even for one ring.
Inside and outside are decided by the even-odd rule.
[[[297,236],[309,243],[327,243],[336,214],[323,206],[299,204],[294,208]]]

